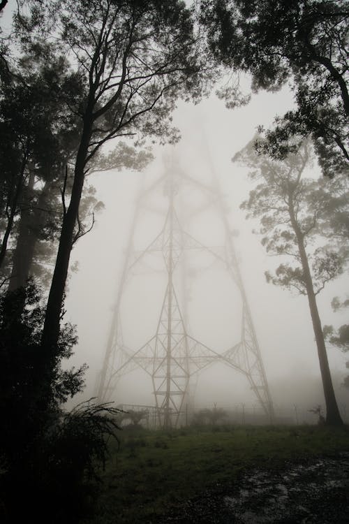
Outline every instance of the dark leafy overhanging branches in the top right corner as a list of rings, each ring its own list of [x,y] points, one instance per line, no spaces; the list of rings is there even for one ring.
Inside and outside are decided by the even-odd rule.
[[[200,6],[218,61],[251,73],[254,92],[288,82],[294,92],[295,110],[276,118],[262,150],[281,159],[295,151],[295,136],[311,136],[325,175],[348,170],[348,1],[201,0]]]

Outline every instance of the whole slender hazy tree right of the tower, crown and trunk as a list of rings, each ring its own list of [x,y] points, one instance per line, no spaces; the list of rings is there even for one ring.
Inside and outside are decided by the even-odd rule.
[[[308,143],[281,162],[258,155],[252,141],[233,160],[253,169],[249,176],[259,182],[241,207],[248,211],[248,217],[260,219],[262,245],[269,254],[292,260],[292,263],[281,263],[274,274],[266,272],[267,281],[295,289],[308,298],[325,393],[326,422],[339,425],[342,421],[316,303],[318,293],[343,272],[346,263],[329,240],[322,237],[322,226],[327,222],[323,201],[331,194],[331,181],[304,177],[309,163]],[[318,198],[319,184],[322,199]]]

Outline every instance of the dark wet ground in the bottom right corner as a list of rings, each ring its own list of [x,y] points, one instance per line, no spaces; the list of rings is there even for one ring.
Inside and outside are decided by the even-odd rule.
[[[217,486],[158,523],[349,524],[349,453],[256,469]]]

